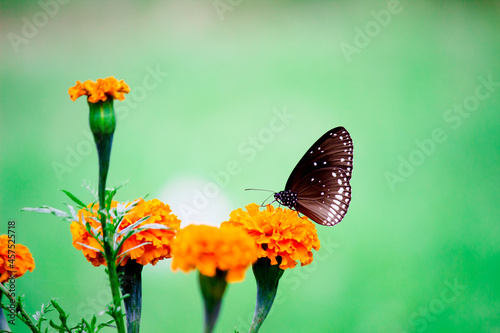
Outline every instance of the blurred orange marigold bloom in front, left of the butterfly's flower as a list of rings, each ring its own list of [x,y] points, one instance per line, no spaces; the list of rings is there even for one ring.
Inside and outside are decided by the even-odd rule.
[[[213,277],[227,272],[227,282],[245,278],[245,270],[257,260],[255,242],[240,228],[189,225],[179,231],[172,244],[172,269],[189,272],[197,268]]]

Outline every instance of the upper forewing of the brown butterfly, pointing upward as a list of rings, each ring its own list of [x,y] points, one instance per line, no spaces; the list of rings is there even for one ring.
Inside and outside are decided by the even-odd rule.
[[[345,171],[348,180],[352,172],[352,139],[344,127],[336,127],[326,132],[307,150],[295,166],[285,190],[296,191],[296,184],[301,178],[310,178],[315,170],[340,168]],[[295,186],[294,186],[295,185]],[[294,189],[295,187],[295,189]]]

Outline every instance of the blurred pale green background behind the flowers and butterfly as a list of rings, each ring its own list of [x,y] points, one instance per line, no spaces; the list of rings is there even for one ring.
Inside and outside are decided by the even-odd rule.
[[[76,321],[110,298],[66,222],[19,210],[90,200],[88,107],[67,90],[115,76],[131,93],[108,184],[183,223],[260,204],[244,189],[282,190],[324,132],[351,133],[349,213],[318,226],[262,332],[500,332],[498,1],[54,1],[0,2],[0,233],[16,221],[35,257],[31,313],[58,297]],[[142,332],[199,332],[196,274],[169,265],[145,267]],[[216,331],[247,330],[254,304],[248,271]]]

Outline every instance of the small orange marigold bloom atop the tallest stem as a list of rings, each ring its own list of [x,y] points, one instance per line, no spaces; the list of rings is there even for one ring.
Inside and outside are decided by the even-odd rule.
[[[81,83],[76,81],[76,85],[68,90],[71,100],[75,101],[78,97],[87,95],[90,103],[104,102],[108,97],[123,101],[124,94],[129,92],[129,86],[123,80],[118,81],[113,76],[97,79],[97,82],[87,80]]]

